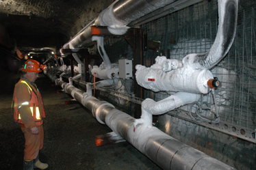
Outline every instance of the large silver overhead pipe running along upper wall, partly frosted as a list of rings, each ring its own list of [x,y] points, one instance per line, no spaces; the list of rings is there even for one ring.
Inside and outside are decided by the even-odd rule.
[[[64,44],[62,48],[81,48],[87,44],[91,44],[92,31],[94,26],[110,26],[125,27],[133,20],[140,18],[154,10],[164,7],[172,3],[174,0],[117,0],[110,7],[106,8],[86,27],[81,29],[69,42]],[[60,50],[62,53],[62,50]]]

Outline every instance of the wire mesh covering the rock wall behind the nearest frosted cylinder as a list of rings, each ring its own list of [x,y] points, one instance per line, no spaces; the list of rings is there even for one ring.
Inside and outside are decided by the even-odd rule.
[[[220,122],[256,130],[256,2],[240,1],[238,27],[233,46],[217,66],[210,70],[221,82],[215,91]],[[211,48],[218,30],[217,1],[201,1],[141,26],[149,40],[161,42],[160,51],[146,51],[144,64],[150,67],[161,51],[170,49],[170,59],[182,60],[189,53],[205,53]],[[164,92],[145,90],[144,98],[159,101]],[[212,104],[210,94],[199,104]],[[179,116],[188,117],[196,104],[180,107]],[[193,110],[193,109],[192,109]],[[175,111],[175,113],[177,113]],[[174,111],[172,111],[174,112]],[[207,113],[202,113],[207,114]],[[234,131],[238,131],[234,129]],[[243,132],[240,130],[243,135]],[[251,133],[255,139],[255,132]]]

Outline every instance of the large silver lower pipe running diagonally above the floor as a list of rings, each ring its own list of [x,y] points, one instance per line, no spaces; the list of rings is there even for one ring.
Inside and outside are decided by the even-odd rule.
[[[116,134],[131,143],[162,169],[233,169],[233,167],[170,137],[158,128],[146,128],[140,125],[133,128],[135,119],[127,113],[114,109],[112,104],[92,96],[85,98],[84,91],[60,81],[60,79],[56,79],[55,83],[92,111],[92,115],[99,122],[107,124]]]

